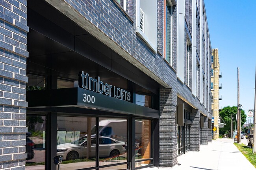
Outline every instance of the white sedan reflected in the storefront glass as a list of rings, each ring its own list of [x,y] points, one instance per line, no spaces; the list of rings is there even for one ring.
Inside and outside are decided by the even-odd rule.
[[[100,157],[115,157],[125,153],[125,143],[117,141],[109,137],[99,137],[99,156]],[[91,137],[91,157],[96,156],[96,137]],[[87,152],[87,136],[71,143],[57,145],[57,156],[63,160],[80,159],[86,157]]]

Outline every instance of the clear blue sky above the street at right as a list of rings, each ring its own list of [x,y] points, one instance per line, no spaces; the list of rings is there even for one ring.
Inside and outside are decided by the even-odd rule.
[[[254,109],[256,0],[204,0],[204,3],[211,47],[219,49],[222,72],[219,107],[237,106],[239,67],[240,104],[247,113]]]

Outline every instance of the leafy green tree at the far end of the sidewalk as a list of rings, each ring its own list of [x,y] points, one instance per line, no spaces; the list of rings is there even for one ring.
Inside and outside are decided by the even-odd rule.
[[[224,128],[219,128],[219,133],[220,134],[224,134],[226,132],[231,132],[231,115],[233,113],[237,113],[237,106],[227,106],[224,107],[220,112],[219,115],[222,117],[222,119],[224,120],[224,122],[226,122],[226,125],[224,125]],[[236,114],[233,114],[232,117],[234,117],[233,121],[234,121],[234,129],[236,127]],[[245,111],[241,110],[241,127],[243,126],[243,124],[245,124],[246,122],[246,115],[245,115]]]

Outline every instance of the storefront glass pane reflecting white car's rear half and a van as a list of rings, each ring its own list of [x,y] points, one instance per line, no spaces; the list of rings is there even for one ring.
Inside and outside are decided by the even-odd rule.
[[[95,132],[95,127],[92,132]],[[126,163],[127,159],[127,119],[100,117],[99,122],[99,165]],[[115,166],[111,166],[113,169]],[[118,166],[119,167],[119,166]],[[122,167],[122,168],[121,168]],[[116,167],[117,168],[117,167]],[[117,169],[127,169],[121,165]],[[109,168],[104,168],[109,169]],[[115,169],[115,168],[114,168]]]

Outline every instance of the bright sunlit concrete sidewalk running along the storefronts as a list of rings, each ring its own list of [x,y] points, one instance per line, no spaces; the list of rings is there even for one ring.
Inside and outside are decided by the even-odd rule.
[[[178,157],[174,170],[255,170],[254,166],[233,144],[234,139],[217,139],[200,146],[199,152],[188,152]],[[169,170],[170,168],[147,168]]]

